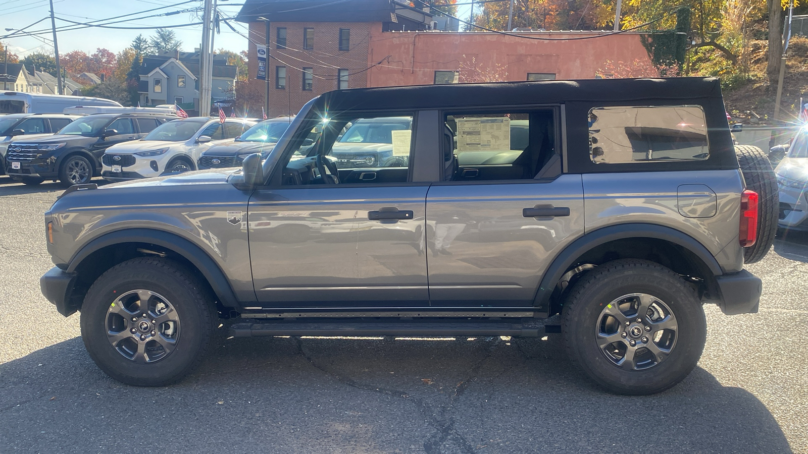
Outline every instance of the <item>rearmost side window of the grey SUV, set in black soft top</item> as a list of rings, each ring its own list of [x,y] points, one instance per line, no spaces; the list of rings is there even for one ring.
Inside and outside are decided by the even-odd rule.
[[[589,111],[589,155],[595,164],[705,161],[701,106],[595,107]]]

